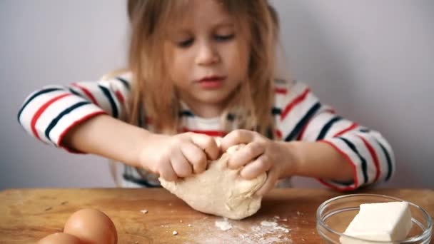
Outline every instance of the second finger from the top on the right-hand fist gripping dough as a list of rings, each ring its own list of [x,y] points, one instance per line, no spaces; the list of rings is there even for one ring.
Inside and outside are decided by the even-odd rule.
[[[251,161],[254,161],[255,158],[263,154],[264,151],[265,147],[263,147],[261,143],[248,143],[246,146],[233,153],[231,158],[229,158],[228,168],[241,168],[251,163]]]

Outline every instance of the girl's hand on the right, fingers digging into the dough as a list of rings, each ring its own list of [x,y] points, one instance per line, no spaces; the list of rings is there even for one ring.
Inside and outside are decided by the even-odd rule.
[[[283,142],[272,141],[260,133],[247,130],[236,130],[228,133],[221,141],[222,151],[241,143],[247,144],[241,150],[231,156],[228,168],[237,169],[243,167],[240,175],[246,179],[253,179],[267,172],[267,180],[256,191],[256,195],[265,195],[274,188],[278,178],[291,175],[294,166],[294,155],[284,146]]]

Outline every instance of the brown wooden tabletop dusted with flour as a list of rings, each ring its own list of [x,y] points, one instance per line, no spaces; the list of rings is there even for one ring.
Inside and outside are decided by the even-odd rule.
[[[434,190],[378,189],[403,198],[434,215]],[[11,189],[0,192],[0,243],[35,243],[61,232],[66,219],[80,208],[96,208],[116,225],[118,243],[321,243],[316,209],[342,193],[325,189],[275,189],[261,210],[241,221],[228,220],[231,230],[216,227],[212,215],[198,213],[163,189]],[[141,210],[148,213],[141,213]],[[269,230],[267,220],[278,223]],[[287,230],[288,229],[288,230]],[[178,235],[173,235],[176,230]]]

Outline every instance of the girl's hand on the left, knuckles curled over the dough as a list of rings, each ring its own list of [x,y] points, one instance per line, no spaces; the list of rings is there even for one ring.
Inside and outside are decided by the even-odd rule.
[[[211,136],[191,132],[152,134],[143,146],[139,163],[166,181],[176,181],[205,171],[208,159],[215,160],[219,155],[220,148]]]

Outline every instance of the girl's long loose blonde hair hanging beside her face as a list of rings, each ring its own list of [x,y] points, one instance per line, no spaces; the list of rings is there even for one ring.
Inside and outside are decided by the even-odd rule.
[[[215,0],[236,22],[248,41],[248,76],[231,94],[221,118],[228,132],[227,116],[234,116],[236,128],[270,135],[274,123],[275,46],[278,17],[267,0]],[[163,38],[171,21],[182,17],[179,11],[188,0],[128,0],[131,43],[128,68],[132,77],[128,122],[138,124],[142,115],[153,119],[156,132],[176,133],[180,104],[173,83],[168,82],[163,54]],[[161,96],[165,94],[165,96]],[[166,95],[167,94],[167,95]],[[273,133],[271,133],[273,135]]]

